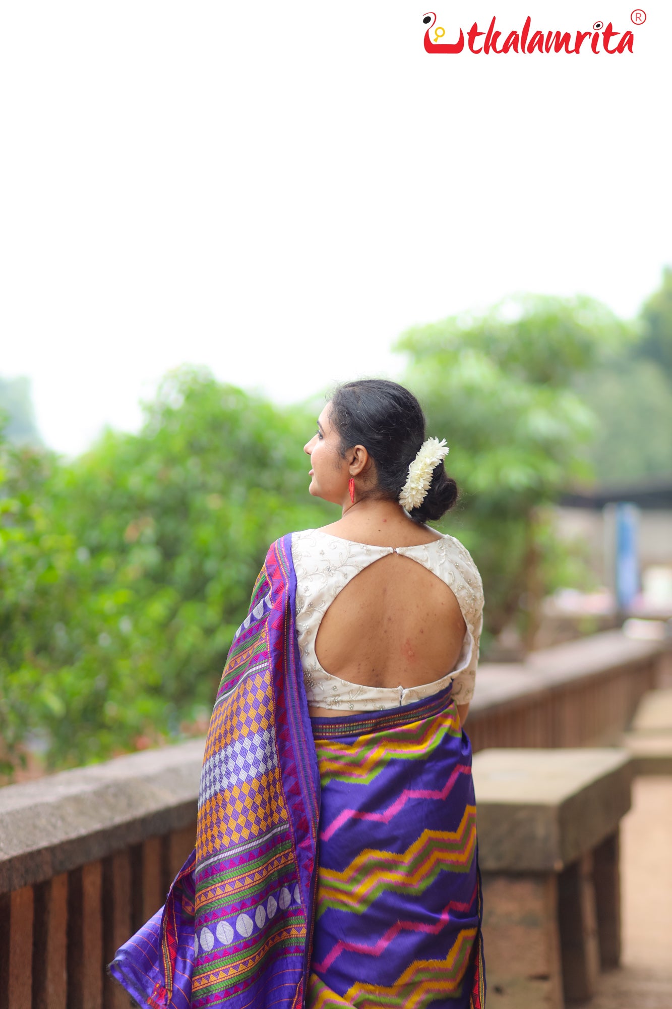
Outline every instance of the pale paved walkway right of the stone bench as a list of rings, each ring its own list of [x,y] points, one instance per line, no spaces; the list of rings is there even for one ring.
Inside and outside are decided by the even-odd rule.
[[[589,1009],[672,1009],[672,777],[638,778],[623,821],[623,967]]]

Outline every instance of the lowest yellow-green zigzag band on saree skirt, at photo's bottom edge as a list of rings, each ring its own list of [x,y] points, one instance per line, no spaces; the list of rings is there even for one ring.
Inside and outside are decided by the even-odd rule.
[[[459,933],[445,960],[415,961],[389,988],[354,984],[345,993],[356,1009],[423,1009],[441,996],[457,992],[469,963],[475,928]]]

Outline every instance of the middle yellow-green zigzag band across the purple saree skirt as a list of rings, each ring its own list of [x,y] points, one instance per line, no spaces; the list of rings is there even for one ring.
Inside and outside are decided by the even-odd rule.
[[[384,890],[422,893],[444,869],[468,872],[475,852],[476,807],[465,806],[457,830],[423,830],[402,854],[366,849],[343,872],[320,867],[317,914],[361,914]]]

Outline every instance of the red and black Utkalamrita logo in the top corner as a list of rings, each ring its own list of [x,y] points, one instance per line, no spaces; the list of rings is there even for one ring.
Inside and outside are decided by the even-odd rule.
[[[630,15],[633,24],[644,24],[647,15],[638,8]],[[460,28],[457,41],[444,41],[446,29],[436,24],[436,14],[429,11],[423,17],[427,25],[425,32],[426,52],[461,52],[465,44],[465,32]],[[496,17],[492,17],[489,27],[480,31],[478,22],[474,21],[466,32],[466,44],[470,52],[488,55],[490,52],[607,52],[609,55],[621,52],[632,52],[634,35],[632,31],[614,31],[611,21],[604,25],[603,21],[595,21],[590,31],[532,31],[532,18],[528,15],[520,31],[514,30],[503,36],[503,31],[496,28]]]

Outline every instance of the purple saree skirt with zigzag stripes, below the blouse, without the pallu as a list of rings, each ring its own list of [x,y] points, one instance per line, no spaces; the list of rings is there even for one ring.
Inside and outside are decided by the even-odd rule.
[[[312,722],[322,805],[310,1009],[481,1009],[471,748],[450,687]]]

